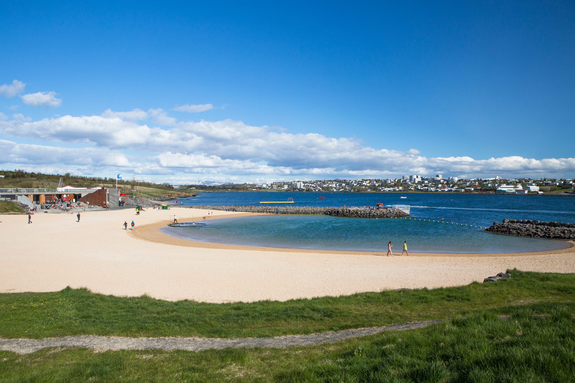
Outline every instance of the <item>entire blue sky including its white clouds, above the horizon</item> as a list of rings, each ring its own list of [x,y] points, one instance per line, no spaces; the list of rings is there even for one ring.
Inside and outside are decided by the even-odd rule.
[[[572,1],[3,2],[0,20],[1,167],[575,177]]]

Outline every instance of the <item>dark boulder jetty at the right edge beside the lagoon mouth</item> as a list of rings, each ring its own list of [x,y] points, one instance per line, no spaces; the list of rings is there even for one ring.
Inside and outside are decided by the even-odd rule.
[[[575,240],[575,223],[505,219],[501,223],[494,222],[486,231],[524,237]]]

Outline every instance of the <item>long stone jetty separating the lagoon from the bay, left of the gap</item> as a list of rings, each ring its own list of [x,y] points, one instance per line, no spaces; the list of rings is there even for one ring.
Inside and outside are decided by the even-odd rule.
[[[269,214],[323,214],[335,217],[356,218],[394,218],[407,217],[408,213],[400,209],[374,208],[361,206],[348,208],[317,206],[190,206],[193,209],[225,210],[229,212],[269,213]]]

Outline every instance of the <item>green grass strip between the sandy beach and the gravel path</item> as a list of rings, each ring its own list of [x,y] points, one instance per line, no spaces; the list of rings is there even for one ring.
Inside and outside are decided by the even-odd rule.
[[[359,293],[287,302],[210,304],[147,296],[114,297],[86,289],[0,294],[0,336],[207,336],[310,334],[407,321],[445,319],[489,309],[539,312],[561,302],[575,312],[575,274],[509,271],[513,278],[440,289]]]

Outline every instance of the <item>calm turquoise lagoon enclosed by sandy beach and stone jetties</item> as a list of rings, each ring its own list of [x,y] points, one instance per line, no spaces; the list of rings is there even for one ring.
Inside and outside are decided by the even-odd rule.
[[[324,250],[497,253],[568,247],[558,240],[498,235],[461,225],[406,219],[361,219],[321,215],[273,215],[218,219],[201,228],[166,227],[171,236],[243,246]]]

